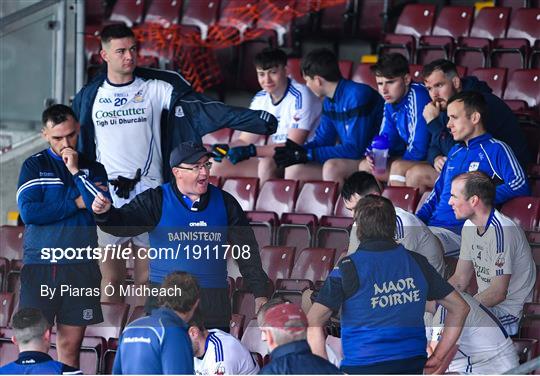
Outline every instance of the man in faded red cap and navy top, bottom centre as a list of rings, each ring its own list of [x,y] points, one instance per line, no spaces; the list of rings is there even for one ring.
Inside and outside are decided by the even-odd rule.
[[[263,339],[270,348],[270,363],[262,375],[339,374],[333,364],[313,355],[306,341],[307,318],[300,307],[292,303],[275,304],[270,300],[261,307],[257,321]]]

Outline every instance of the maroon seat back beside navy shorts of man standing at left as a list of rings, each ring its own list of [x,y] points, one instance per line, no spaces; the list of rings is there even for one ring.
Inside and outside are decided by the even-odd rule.
[[[86,328],[86,336],[109,338],[119,338],[126,325],[129,304],[125,303],[101,303],[103,311],[103,322],[101,324],[89,325]]]

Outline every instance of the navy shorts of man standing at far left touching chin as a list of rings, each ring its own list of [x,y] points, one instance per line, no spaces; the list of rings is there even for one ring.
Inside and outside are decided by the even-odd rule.
[[[41,310],[51,325],[55,319],[64,325],[98,324],[103,321],[100,286],[96,262],[24,265],[19,308]]]

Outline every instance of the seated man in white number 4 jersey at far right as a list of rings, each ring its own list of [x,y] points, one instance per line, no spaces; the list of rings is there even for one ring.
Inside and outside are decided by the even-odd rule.
[[[525,233],[494,202],[495,185],[486,174],[469,172],[453,179],[450,205],[456,218],[467,221],[456,271],[448,282],[463,291],[476,275],[474,297],[515,335],[523,304],[532,301],[536,266]]]

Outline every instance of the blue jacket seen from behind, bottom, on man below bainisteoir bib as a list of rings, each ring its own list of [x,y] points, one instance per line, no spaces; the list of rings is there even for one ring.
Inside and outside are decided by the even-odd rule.
[[[169,308],[133,321],[120,336],[113,374],[195,374],[184,321]]]

